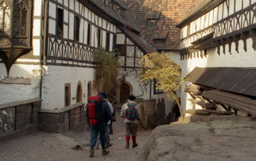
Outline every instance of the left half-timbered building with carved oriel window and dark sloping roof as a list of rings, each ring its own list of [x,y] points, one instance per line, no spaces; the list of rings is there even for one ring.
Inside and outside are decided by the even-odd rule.
[[[126,87],[121,86],[118,101],[141,95],[135,69],[140,56],[156,49],[139,36],[122,1],[2,0],[0,5],[3,107],[39,98],[40,129],[63,131],[84,123],[84,104],[95,94],[94,51],[100,46],[107,52],[119,48],[121,74],[129,72],[121,75],[128,93],[123,94]],[[28,106],[24,115],[30,113],[34,111]]]

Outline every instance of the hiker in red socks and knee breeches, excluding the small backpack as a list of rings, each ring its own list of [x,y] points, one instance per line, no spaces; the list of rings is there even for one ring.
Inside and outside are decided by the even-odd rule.
[[[130,142],[130,135],[131,135],[131,139],[133,142],[132,148],[135,148],[136,146],[138,146],[137,142],[136,142],[136,136],[137,136],[137,119],[140,118],[140,110],[139,110],[139,105],[134,101],[135,96],[134,95],[129,95],[128,99],[127,99],[127,103],[125,103],[121,109],[121,117],[124,118],[124,122],[125,122],[125,140],[126,140],[126,144],[125,144],[125,148],[129,149],[129,142]],[[127,117],[125,117],[125,111],[128,107],[128,103],[131,104],[135,104],[135,109],[137,110],[137,117],[133,120],[128,119]]]

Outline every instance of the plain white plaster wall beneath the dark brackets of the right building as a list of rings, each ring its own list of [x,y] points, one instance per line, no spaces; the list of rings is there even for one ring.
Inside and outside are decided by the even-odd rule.
[[[226,54],[223,52],[223,46],[220,48],[220,55],[217,54],[217,48],[207,50],[206,57],[197,56],[194,58],[189,58],[187,60],[180,61],[182,63],[182,71],[184,75],[189,74],[195,66],[198,67],[256,67],[256,51],[251,47],[252,40],[249,38],[247,40],[247,52],[243,49],[243,40],[238,42],[238,52],[235,50],[235,44],[232,43],[231,54],[228,52],[228,45],[224,48]],[[190,95],[183,92],[185,89],[181,89],[181,106],[183,110],[192,109],[192,103],[187,101],[191,99]]]

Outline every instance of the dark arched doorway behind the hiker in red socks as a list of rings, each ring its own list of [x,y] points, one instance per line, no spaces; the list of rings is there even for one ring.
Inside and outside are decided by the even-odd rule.
[[[121,83],[117,89],[117,103],[125,103],[129,95],[133,94],[133,87],[127,81]]]

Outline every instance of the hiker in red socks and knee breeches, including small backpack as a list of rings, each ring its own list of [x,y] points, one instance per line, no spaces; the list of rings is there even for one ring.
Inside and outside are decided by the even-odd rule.
[[[125,103],[121,109],[121,117],[124,118],[125,121],[125,139],[126,144],[125,148],[129,149],[130,135],[133,141],[132,148],[138,146],[136,142],[137,136],[137,120],[140,118],[140,110],[139,105],[134,101],[135,96],[130,95],[127,99],[127,103]]]

